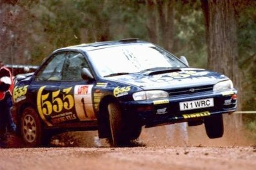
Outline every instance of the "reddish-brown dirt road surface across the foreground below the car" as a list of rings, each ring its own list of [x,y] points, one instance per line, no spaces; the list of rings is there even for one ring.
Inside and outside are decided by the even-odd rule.
[[[0,169],[256,169],[255,147],[0,149]]]

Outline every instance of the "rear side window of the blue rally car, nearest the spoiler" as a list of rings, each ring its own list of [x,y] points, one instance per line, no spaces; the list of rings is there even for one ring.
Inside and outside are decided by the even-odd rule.
[[[52,56],[51,60],[37,73],[37,81],[58,81],[61,80],[61,71],[65,61],[66,53],[58,53]]]

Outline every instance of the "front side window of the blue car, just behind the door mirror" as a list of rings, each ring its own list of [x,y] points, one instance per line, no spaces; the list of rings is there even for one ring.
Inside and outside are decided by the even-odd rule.
[[[66,62],[63,66],[62,80],[65,81],[82,81],[82,68],[88,68],[88,64],[81,53],[68,53]]]

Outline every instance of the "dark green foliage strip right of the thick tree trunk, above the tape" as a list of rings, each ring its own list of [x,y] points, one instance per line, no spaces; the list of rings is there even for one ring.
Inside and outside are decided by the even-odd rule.
[[[256,110],[256,3],[246,6],[240,13],[238,19],[238,44],[239,44],[239,65],[243,73],[244,110]],[[254,38],[253,38],[254,37]]]

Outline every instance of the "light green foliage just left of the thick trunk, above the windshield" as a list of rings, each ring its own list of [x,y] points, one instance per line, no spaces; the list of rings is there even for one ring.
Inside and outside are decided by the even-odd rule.
[[[175,5],[174,53],[185,55],[191,67],[206,68],[204,18],[200,1],[177,1]]]

